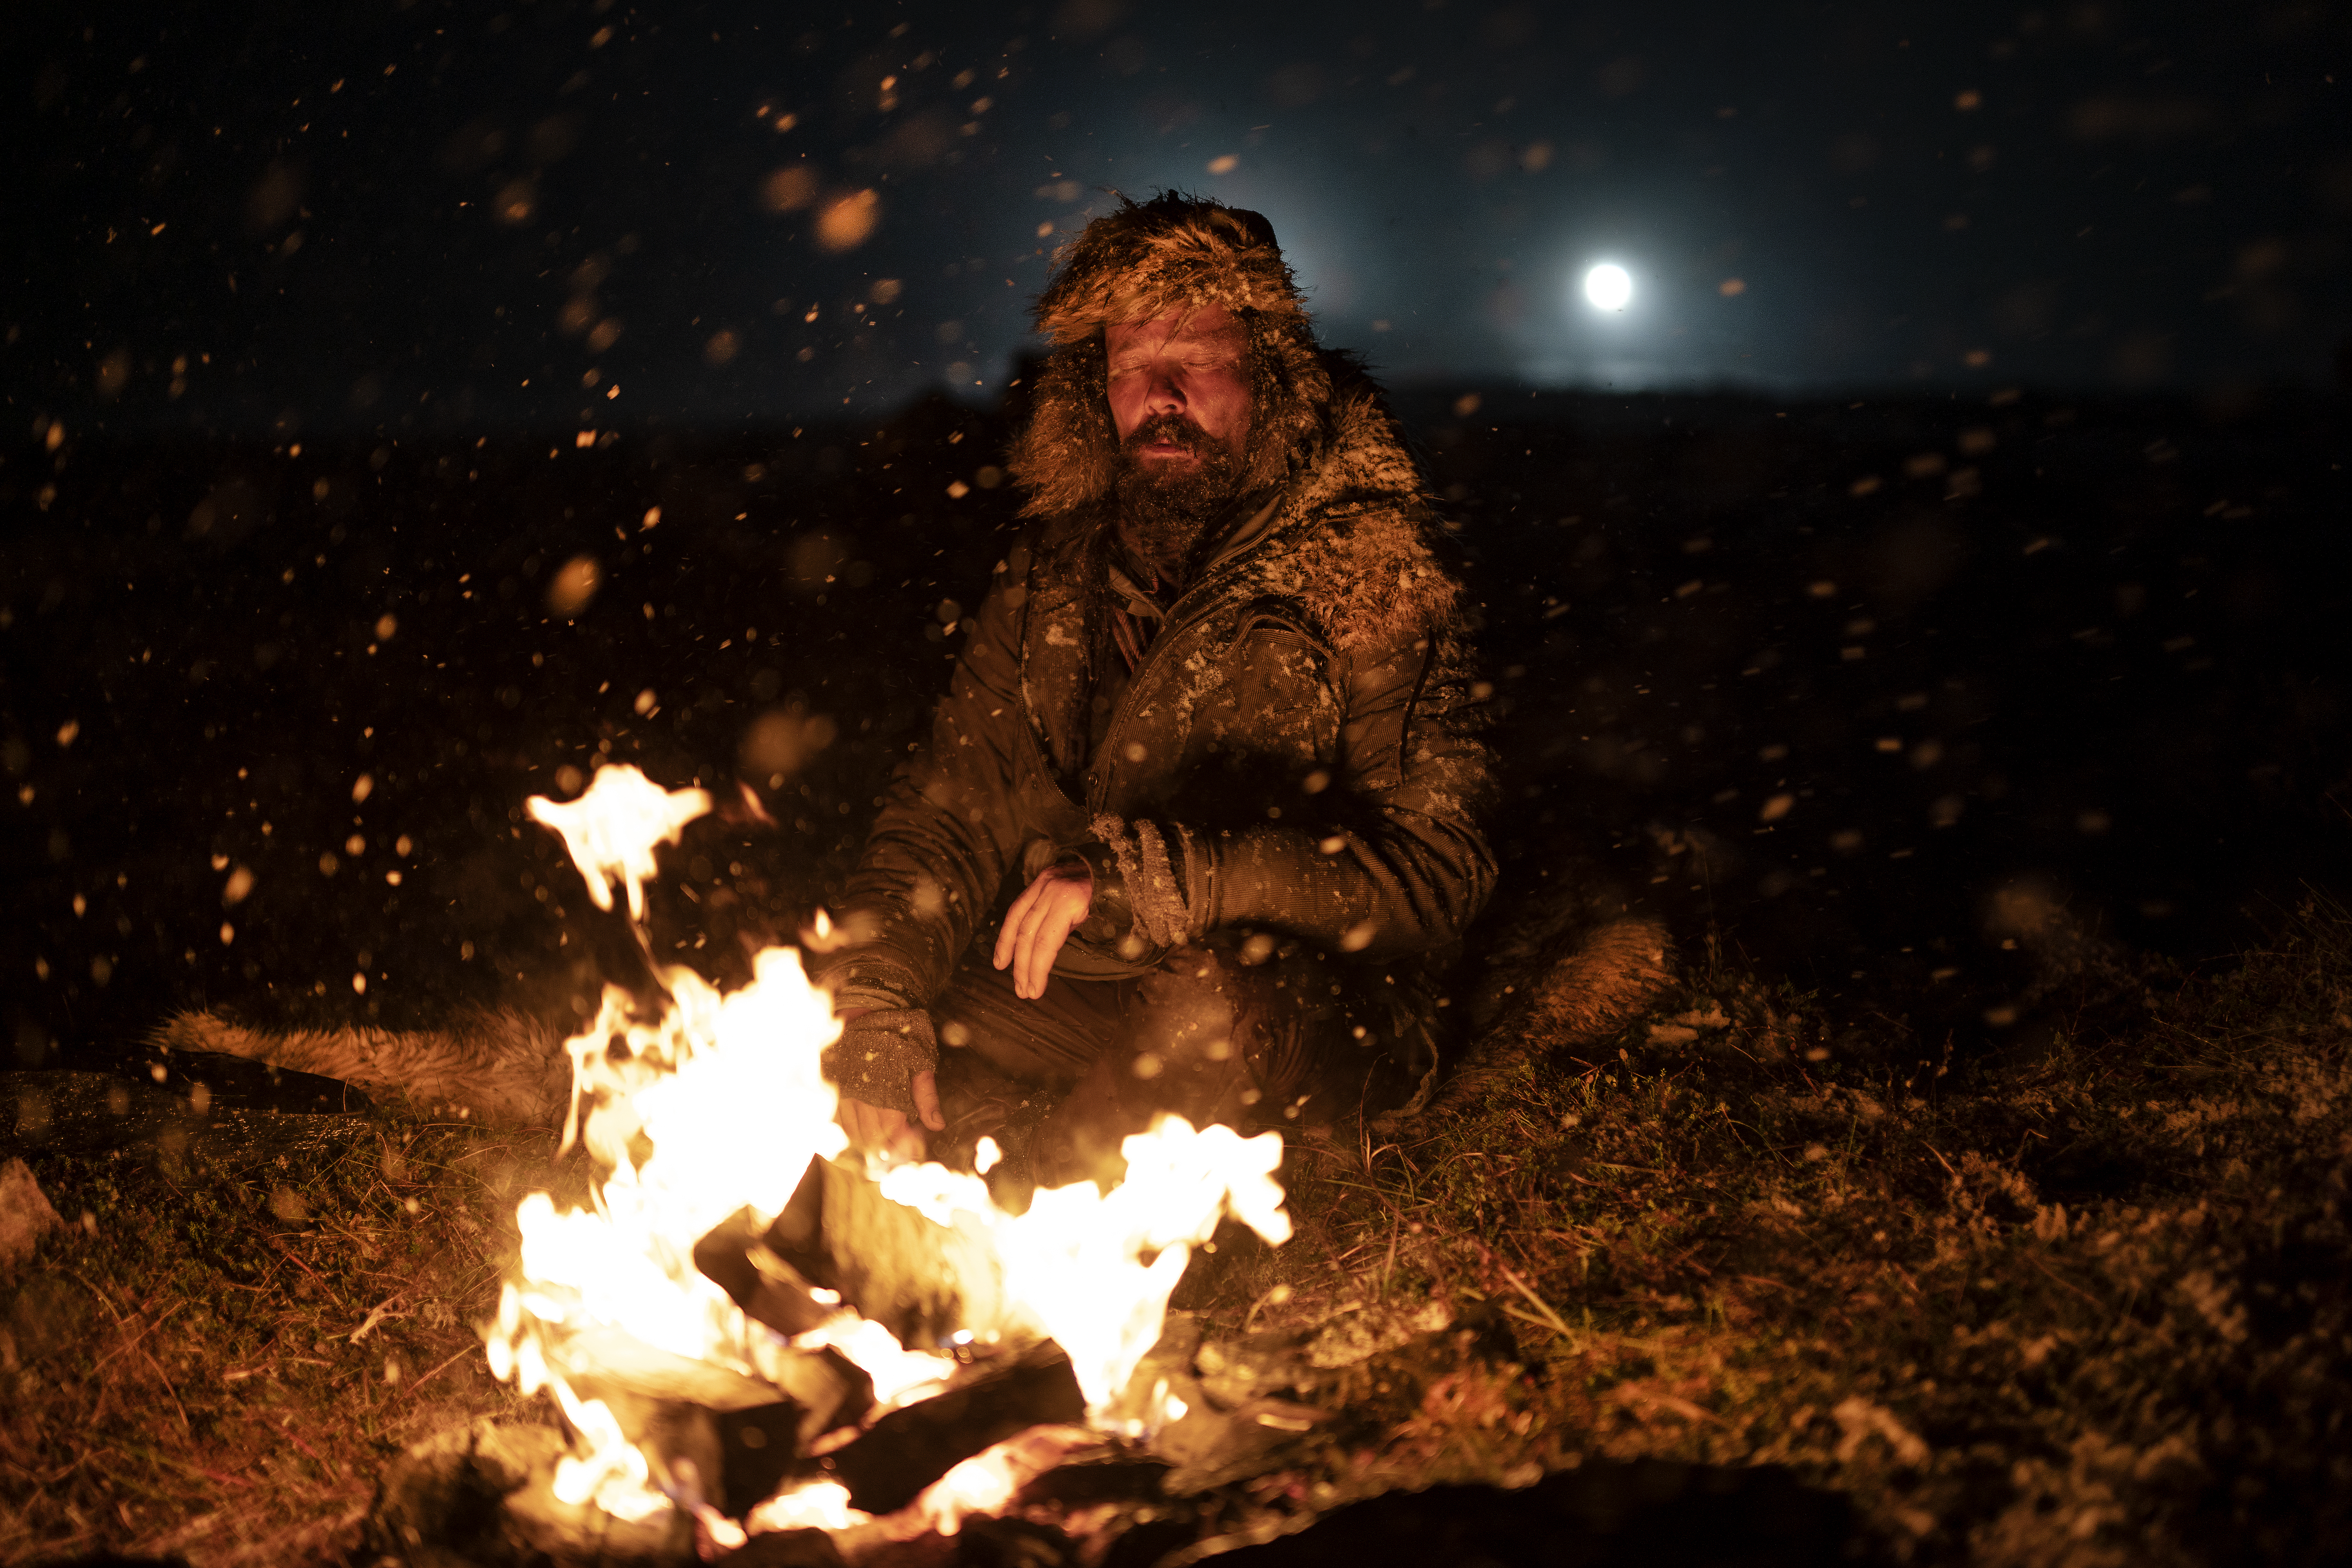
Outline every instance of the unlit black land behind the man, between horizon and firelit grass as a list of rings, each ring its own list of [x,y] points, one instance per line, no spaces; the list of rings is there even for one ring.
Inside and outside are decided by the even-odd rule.
[[[1486,621],[1501,919],[1573,879],[1973,1053],[2030,1011],[2025,905],[2194,964],[2343,886],[2338,400],[1486,388],[1402,414]],[[590,449],[19,447],[19,1060],[96,1060],[181,1006],[564,1006],[588,905],[522,799],[600,757],[741,778],[776,818],[689,832],[659,912],[680,957],[724,976],[736,931],[797,931],[1018,527],[1007,428],[934,400]]]

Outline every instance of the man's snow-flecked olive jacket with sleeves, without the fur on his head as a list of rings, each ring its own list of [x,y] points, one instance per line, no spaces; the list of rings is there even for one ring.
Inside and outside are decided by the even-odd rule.
[[[1442,950],[1479,912],[1491,776],[1461,585],[1376,390],[1334,367],[1331,437],[1167,607],[1101,745],[1084,543],[1105,508],[1040,520],[997,564],[840,900],[851,945],[826,980],[844,1009],[929,1006],[1068,853],[1124,872],[1129,907],[1098,882],[1115,917],[1070,938],[1061,976],[1265,933],[1381,983],[1369,966]]]

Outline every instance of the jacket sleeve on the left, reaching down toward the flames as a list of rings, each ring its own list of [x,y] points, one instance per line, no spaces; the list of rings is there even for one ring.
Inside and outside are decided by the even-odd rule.
[[[844,947],[818,971],[842,1006],[929,1006],[1018,858],[1018,609],[1028,548],[997,564],[931,738],[891,776],[842,891]]]

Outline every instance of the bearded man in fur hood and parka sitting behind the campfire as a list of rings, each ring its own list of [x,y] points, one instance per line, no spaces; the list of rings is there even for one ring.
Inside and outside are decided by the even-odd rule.
[[[1406,1110],[1494,856],[1470,616],[1402,433],[1254,212],[1122,200],[1037,324],[1030,527],[821,971],[842,1124],[903,1157],[950,1112],[957,1150],[1028,1133],[1058,1185],[1160,1112]]]

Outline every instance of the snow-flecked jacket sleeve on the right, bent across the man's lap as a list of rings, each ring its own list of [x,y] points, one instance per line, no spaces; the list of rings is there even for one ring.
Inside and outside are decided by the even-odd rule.
[[[1256,926],[1385,959],[1463,936],[1494,891],[1479,830],[1494,783],[1484,705],[1458,644],[1414,639],[1343,661],[1338,778],[1319,823],[1204,832],[1098,818],[1138,933]]]

